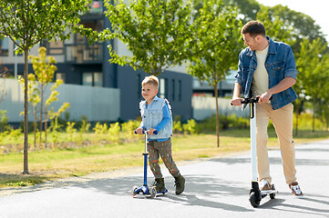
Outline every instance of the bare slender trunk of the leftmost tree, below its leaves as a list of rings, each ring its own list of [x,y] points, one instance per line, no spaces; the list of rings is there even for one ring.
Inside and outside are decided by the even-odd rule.
[[[28,48],[24,51],[24,171],[28,173],[28,96],[27,96],[27,74],[28,74]]]

